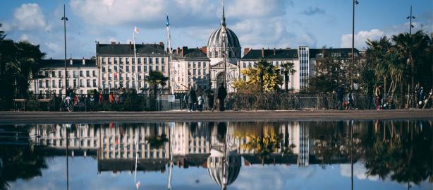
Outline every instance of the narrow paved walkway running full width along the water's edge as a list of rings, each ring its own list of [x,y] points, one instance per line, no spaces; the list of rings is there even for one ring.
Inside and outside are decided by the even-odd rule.
[[[58,124],[157,121],[331,121],[429,119],[433,109],[227,111],[227,112],[0,112],[0,124]]]

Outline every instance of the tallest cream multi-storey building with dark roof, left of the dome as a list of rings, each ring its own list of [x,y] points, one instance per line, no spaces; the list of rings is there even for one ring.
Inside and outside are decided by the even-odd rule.
[[[104,92],[117,88],[149,88],[147,77],[151,71],[160,71],[169,76],[169,54],[164,43],[135,44],[96,44],[96,59],[99,69],[99,88]],[[137,76],[136,76],[137,75]]]

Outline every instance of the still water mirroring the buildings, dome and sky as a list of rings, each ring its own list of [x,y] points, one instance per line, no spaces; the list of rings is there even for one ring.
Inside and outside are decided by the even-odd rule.
[[[0,189],[433,189],[432,136],[433,121],[3,125]]]

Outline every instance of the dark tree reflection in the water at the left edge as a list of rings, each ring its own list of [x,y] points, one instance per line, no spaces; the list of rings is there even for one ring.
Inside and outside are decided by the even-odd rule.
[[[1,146],[0,189],[7,189],[8,182],[41,176],[47,168],[42,153],[30,146]]]

